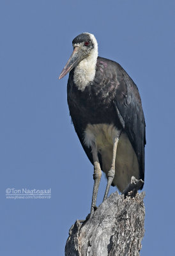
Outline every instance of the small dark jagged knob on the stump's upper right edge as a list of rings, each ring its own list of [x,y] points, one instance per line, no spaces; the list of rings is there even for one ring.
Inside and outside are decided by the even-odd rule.
[[[143,180],[137,180],[134,176],[132,176],[131,182],[128,184],[126,189],[122,192],[122,195],[134,197],[137,194],[137,191],[141,188]]]

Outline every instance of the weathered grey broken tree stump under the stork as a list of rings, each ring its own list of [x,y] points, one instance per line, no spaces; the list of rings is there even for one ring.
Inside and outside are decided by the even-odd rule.
[[[65,256],[139,255],[144,236],[144,193],[134,198],[114,193],[93,217],[70,228]]]

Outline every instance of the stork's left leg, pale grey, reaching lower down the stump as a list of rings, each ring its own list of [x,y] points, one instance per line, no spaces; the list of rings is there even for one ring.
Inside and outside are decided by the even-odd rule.
[[[93,187],[93,198],[92,198],[92,204],[91,204],[90,217],[93,215],[93,212],[95,211],[96,197],[97,197],[97,193],[98,193],[100,179],[102,177],[102,170],[100,168],[100,163],[99,163],[99,159],[98,159],[98,152],[97,152],[95,143],[92,144],[91,150],[92,150],[92,154],[93,154],[93,163],[94,163],[94,174],[93,174],[94,187]]]

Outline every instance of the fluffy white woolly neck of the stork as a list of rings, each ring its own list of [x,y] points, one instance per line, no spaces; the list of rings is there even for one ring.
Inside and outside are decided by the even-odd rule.
[[[91,54],[80,61],[79,65],[74,70],[73,81],[79,90],[84,91],[89,82],[93,81],[96,72],[96,60],[98,57],[98,45],[95,36],[90,34],[93,38],[94,48]]]

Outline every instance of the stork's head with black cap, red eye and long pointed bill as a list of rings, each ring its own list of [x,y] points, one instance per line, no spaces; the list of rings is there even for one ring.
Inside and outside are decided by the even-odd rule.
[[[92,55],[93,58],[97,58],[98,56],[98,45],[96,42],[96,38],[94,35],[90,33],[82,33],[76,36],[73,41],[73,52],[70,56],[68,62],[66,63],[65,67],[63,68],[59,79],[66,76],[72,68],[77,67],[80,61],[88,58]]]

